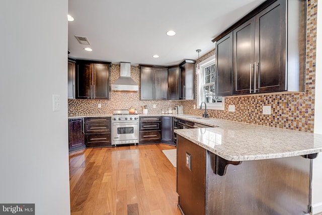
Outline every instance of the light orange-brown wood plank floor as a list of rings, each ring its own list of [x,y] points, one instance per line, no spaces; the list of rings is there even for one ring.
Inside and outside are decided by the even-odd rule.
[[[69,154],[71,215],[181,214],[176,168],[164,144],[85,149]]]

